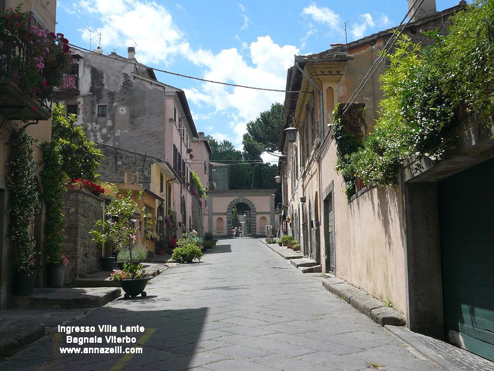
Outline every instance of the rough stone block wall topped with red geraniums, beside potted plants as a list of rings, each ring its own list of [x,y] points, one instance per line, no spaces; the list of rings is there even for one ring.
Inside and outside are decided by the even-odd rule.
[[[101,250],[91,239],[89,230],[103,217],[104,200],[83,189],[68,189],[65,202],[65,242],[62,250],[69,264],[65,267],[65,284],[87,273],[99,271]]]

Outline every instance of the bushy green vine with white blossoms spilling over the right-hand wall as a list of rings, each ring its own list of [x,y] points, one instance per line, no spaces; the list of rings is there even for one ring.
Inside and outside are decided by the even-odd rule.
[[[405,160],[441,159],[453,145],[460,108],[493,114],[493,19],[494,1],[475,0],[453,17],[448,36],[428,33],[436,42],[432,46],[421,49],[402,36],[387,56],[389,67],[380,77],[386,98],[363,145],[336,112],[336,170],[347,182],[348,196],[356,176],[365,184],[395,186]]]

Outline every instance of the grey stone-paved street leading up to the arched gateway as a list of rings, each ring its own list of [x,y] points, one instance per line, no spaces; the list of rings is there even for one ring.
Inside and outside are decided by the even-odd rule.
[[[321,280],[301,274],[257,239],[220,240],[200,263],[171,266],[153,278],[145,298],[120,297],[64,324],[95,326],[95,332],[67,335],[55,328],[0,369],[443,370],[326,291]],[[111,332],[100,332],[103,325]],[[139,332],[119,332],[121,326]],[[102,343],[67,343],[68,336]],[[142,354],[60,353],[61,347],[115,346],[139,347]]]

